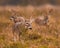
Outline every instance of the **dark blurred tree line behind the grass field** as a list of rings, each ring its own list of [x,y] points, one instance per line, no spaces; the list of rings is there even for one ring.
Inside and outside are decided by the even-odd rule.
[[[42,5],[45,3],[60,5],[60,0],[0,0],[0,5]]]

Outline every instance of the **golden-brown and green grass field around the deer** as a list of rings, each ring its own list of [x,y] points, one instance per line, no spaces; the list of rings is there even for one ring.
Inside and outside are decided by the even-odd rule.
[[[53,9],[49,13],[50,9]],[[60,48],[60,7],[57,6],[0,6],[0,48]],[[50,14],[49,27],[32,23],[33,29],[22,30],[21,41],[13,41],[12,22],[9,20],[15,10],[17,15],[36,18]]]

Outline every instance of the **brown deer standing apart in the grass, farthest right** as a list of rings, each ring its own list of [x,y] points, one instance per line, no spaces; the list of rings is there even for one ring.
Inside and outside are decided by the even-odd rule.
[[[45,16],[39,16],[35,19],[35,22],[38,25],[47,25],[47,23],[49,22],[49,16],[45,15]]]

